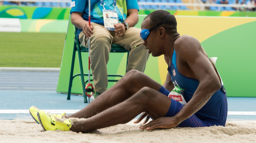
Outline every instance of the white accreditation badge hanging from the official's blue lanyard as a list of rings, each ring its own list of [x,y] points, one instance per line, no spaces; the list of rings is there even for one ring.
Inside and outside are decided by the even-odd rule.
[[[114,10],[102,10],[104,27],[107,30],[115,31],[114,24],[118,24],[118,14]]]

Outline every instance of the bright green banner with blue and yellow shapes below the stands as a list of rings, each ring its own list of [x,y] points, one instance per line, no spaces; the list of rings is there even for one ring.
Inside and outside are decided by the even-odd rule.
[[[58,19],[68,20],[71,8],[39,8],[39,7],[13,7],[0,6],[0,18],[19,19]],[[140,10],[139,14],[149,14],[154,10]],[[256,12],[247,11],[191,11],[191,10],[167,10],[173,15],[185,16],[235,16],[256,17]]]

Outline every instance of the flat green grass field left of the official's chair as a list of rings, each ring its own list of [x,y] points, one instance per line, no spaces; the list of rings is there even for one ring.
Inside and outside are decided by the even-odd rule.
[[[59,68],[65,33],[0,32],[0,67]]]

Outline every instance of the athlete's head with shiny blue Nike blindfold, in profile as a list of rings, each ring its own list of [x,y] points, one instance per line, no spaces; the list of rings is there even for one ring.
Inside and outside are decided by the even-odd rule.
[[[149,50],[152,56],[160,56],[164,53],[162,44],[165,36],[176,36],[177,22],[168,11],[157,10],[150,13],[141,23],[140,37],[145,49]]]

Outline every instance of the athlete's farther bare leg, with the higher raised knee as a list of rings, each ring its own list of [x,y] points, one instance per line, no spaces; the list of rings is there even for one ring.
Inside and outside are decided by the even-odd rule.
[[[117,103],[127,100],[143,87],[150,87],[158,91],[161,85],[142,72],[136,70],[129,71],[113,87],[103,92],[85,108],[69,115],[67,118],[92,117]]]

